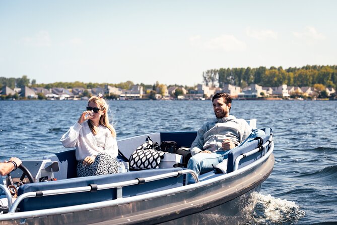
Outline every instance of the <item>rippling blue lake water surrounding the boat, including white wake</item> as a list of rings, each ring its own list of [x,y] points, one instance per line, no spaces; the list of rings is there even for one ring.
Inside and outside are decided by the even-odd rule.
[[[211,101],[110,101],[117,139],[196,131]],[[0,101],[0,160],[64,151],[86,101]],[[337,101],[233,101],[230,114],[273,128],[275,167],[250,224],[337,223]]]

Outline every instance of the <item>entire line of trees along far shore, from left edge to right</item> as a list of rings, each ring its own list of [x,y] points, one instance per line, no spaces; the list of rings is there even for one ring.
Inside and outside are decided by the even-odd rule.
[[[322,84],[326,87],[337,87],[337,66],[304,66],[301,68],[290,67],[288,69],[283,69],[282,67],[276,68],[271,67],[267,69],[266,67],[258,68],[220,68],[212,69],[203,72],[203,81],[207,86],[213,87],[223,87],[224,84],[231,84],[235,86],[240,86],[244,88],[250,84],[258,84],[263,87],[278,87],[282,84],[287,84],[288,86],[299,86],[313,87],[315,84]],[[83,87],[85,89],[90,88],[104,88],[105,85],[110,85],[112,87],[117,87],[121,89],[130,89],[134,83],[132,81],[121,82],[118,84],[109,83],[84,83],[80,81],[75,82],[54,82],[49,84],[37,84],[36,80],[33,79],[30,82],[27,75],[23,75],[21,78],[6,78],[0,77],[0,89],[3,86],[8,86],[12,89],[16,87],[43,87],[43,88],[53,88],[53,87],[63,87],[63,88],[74,88]],[[139,84],[143,86],[143,89],[153,89],[156,90],[157,87],[161,87],[157,81],[155,84]],[[182,85],[170,85],[179,86]],[[169,87],[170,87],[169,86]],[[193,89],[193,87],[184,86],[186,90]]]

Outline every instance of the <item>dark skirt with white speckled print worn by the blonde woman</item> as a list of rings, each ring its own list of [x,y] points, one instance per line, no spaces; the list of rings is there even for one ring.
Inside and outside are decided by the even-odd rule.
[[[77,163],[77,177],[117,174],[118,162],[107,153],[99,153],[91,165],[83,165],[83,160]]]

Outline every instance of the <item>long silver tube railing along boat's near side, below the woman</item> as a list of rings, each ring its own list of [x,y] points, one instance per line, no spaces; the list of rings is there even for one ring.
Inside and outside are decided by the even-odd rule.
[[[71,193],[79,193],[79,192],[90,192],[90,191],[98,191],[98,190],[104,190],[104,189],[111,189],[116,188],[117,189],[117,199],[122,198],[122,188],[126,186],[131,185],[138,185],[138,184],[144,184],[151,181],[157,181],[161,179],[166,179],[170,177],[179,177],[184,174],[191,174],[192,177],[195,180],[195,183],[199,183],[199,179],[197,174],[192,170],[182,170],[182,171],[175,171],[171,173],[151,176],[151,177],[145,177],[145,178],[136,178],[133,180],[128,181],[122,181],[122,182],[116,182],[116,183],[110,183],[110,184],[102,184],[102,185],[96,185],[92,184],[89,186],[84,187],[74,187],[74,188],[63,188],[63,189],[55,189],[55,190],[44,190],[44,191],[32,191],[23,193],[22,195],[18,196],[18,198],[13,202],[13,204],[10,205],[11,194],[8,191],[8,189],[4,185],[0,185],[3,190],[5,190],[6,197],[9,199],[9,213],[14,213],[17,207],[19,206],[20,202],[24,200],[25,198],[33,198],[33,197],[41,197],[41,196],[50,196],[50,195],[60,195],[60,194],[71,194]],[[3,188],[5,187],[5,189]]]

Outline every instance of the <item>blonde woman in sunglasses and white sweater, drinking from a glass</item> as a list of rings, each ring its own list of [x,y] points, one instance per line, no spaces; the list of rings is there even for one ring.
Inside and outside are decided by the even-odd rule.
[[[108,109],[101,94],[92,96],[87,110],[61,138],[64,147],[76,148],[78,177],[118,172],[116,131],[109,124]]]

